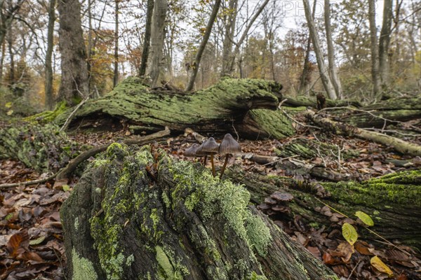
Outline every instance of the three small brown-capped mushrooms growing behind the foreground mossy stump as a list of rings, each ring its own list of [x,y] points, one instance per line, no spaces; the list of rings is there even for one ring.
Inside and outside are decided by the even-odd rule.
[[[203,141],[201,145],[193,144],[190,148],[187,148],[184,152],[185,157],[199,158],[205,157],[203,165],[206,165],[206,158],[210,155],[210,162],[212,164],[212,175],[215,177],[215,165],[213,163],[213,156],[216,154],[225,155],[225,162],[221,169],[220,178],[224,174],[225,167],[227,167],[228,159],[230,156],[236,153],[241,153],[241,146],[239,142],[235,141],[231,134],[225,134],[221,144],[218,144],[213,137]]]

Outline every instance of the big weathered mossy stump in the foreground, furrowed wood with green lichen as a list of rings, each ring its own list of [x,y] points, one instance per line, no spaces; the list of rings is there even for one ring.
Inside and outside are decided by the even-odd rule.
[[[67,268],[90,279],[337,279],[250,193],[149,146],[112,144],[63,204]]]

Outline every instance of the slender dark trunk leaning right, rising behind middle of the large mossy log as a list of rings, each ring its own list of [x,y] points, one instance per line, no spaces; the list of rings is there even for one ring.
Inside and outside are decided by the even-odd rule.
[[[215,4],[213,4],[212,13],[210,13],[210,18],[208,21],[208,25],[206,26],[205,34],[203,35],[202,41],[199,45],[199,50],[196,52],[196,57],[194,59],[194,64],[192,66],[192,71],[189,72],[189,82],[187,83],[186,91],[189,92],[193,89],[194,80],[196,80],[197,71],[199,70],[201,57],[203,55],[203,51],[206,48],[206,44],[208,43],[210,31],[212,31],[213,23],[215,22],[216,15],[218,15],[218,10],[221,6],[221,0],[215,0]]]

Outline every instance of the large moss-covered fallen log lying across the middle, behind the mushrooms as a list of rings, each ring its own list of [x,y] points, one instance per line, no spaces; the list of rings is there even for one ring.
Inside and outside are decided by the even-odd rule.
[[[255,125],[258,126],[255,130],[265,131],[256,122],[260,118],[246,116],[253,109],[276,109],[281,88],[279,83],[269,80],[227,78],[205,90],[185,94],[150,90],[139,78],[128,78],[105,97],[83,104],[75,113],[73,123],[95,123],[108,119],[109,124],[111,116],[126,120],[128,127],[140,131],[158,131],[168,127],[182,132],[190,127],[199,132],[215,133],[232,131],[237,126],[248,128]],[[56,122],[64,123],[71,111],[73,109],[62,113]],[[98,118],[100,116],[104,118]],[[292,133],[290,124],[286,131]]]

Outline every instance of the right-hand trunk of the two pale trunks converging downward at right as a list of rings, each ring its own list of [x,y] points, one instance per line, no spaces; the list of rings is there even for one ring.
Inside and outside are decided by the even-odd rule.
[[[335,65],[335,48],[333,48],[332,27],[330,25],[330,0],[325,0],[324,12],[330,79],[332,80],[333,87],[335,87],[336,95],[339,99],[342,99],[342,85],[338,76],[338,69]]]

